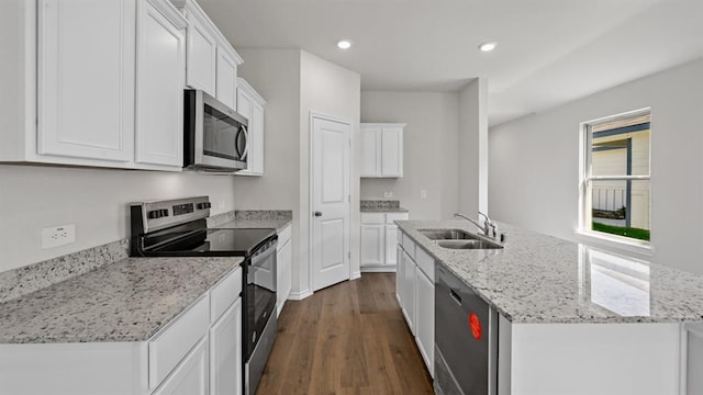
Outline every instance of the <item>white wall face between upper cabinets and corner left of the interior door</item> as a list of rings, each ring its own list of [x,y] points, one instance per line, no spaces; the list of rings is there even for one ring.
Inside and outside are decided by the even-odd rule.
[[[237,210],[291,210],[292,289],[301,291],[300,216],[300,49],[238,49],[238,74],[266,100],[264,109],[264,176],[237,176]]]

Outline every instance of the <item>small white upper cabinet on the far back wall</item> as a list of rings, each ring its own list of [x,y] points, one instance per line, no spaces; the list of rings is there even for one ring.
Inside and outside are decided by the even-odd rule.
[[[361,177],[403,177],[404,127],[405,124],[361,124]]]

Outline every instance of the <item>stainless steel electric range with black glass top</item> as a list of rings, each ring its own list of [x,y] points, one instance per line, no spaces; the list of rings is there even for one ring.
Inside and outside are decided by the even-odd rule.
[[[244,257],[243,382],[253,395],[276,339],[276,229],[208,228],[210,200],[130,205],[133,257]]]

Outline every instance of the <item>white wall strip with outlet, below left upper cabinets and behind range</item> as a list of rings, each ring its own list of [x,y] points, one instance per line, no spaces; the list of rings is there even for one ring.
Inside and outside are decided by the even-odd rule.
[[[0,271],[129,237],[131,202],[210,195],[213,214],[232,211],[234,185],[232,176],[0,163]],[[67,224],[76,242],[42,249],[42,228]]]

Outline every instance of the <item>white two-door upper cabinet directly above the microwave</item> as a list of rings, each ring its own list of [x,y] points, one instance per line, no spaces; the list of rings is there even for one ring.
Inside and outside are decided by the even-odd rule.
[[[201,89],[235,110],[242,58],[194,0],[171,2],[188,19],[187,86]]]

